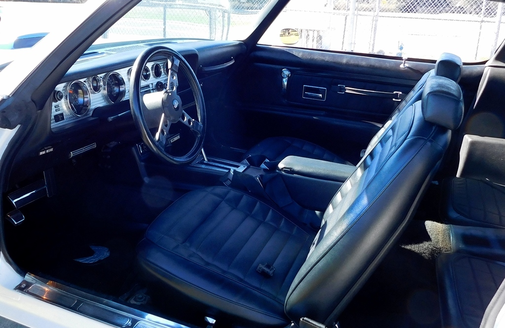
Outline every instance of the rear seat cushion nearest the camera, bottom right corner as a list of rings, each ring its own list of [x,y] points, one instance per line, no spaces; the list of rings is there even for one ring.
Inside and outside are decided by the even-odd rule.
[[[459,253],[437,258],[443,327],[479,328],[505,279],[505,263]]]

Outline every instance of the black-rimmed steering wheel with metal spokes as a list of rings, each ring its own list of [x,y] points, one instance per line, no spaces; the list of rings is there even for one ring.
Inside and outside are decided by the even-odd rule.
[[[142,93],[144,67],[149,61],[160,60],[168,61],[166,88],[163,91]],[[195,100],[197,120],[183,110],[181,98],[177,94],[179,72],[182,72],[189,82]],[[133,121],[149,150],[173,164],[187,164],[196,159],[204,146],[206,131],[204,95],[196,75],[179,53],[158,45],[146,49],[138,56],[130,75],[130,109]],[[175,138],[170,136],[169,129],[177,122],[182,122],[195,135],[193,147],[183,156],[170,155],[166,150]]]

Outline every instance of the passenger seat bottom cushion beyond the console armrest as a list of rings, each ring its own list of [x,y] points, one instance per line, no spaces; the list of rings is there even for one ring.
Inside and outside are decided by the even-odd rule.
[[[244,159],[254,155],[264,155],[269,161],[280,161],[287,156],[300,156],[352,165],[322,147],[308,141],[287,136],[266,138],[245,153]]]

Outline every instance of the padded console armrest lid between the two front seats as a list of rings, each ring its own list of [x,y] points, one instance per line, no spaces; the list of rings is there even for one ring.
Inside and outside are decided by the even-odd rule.
[[[298,156],[284,158],[277,168],[287,174],[337,182],[344,182],[356,170],[356,166],[354,165],[338,164]]]

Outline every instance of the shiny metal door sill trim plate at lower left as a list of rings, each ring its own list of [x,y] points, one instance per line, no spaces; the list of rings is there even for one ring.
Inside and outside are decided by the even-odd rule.
[[[189,328],[27,273],[14,290],[116,327]]]

